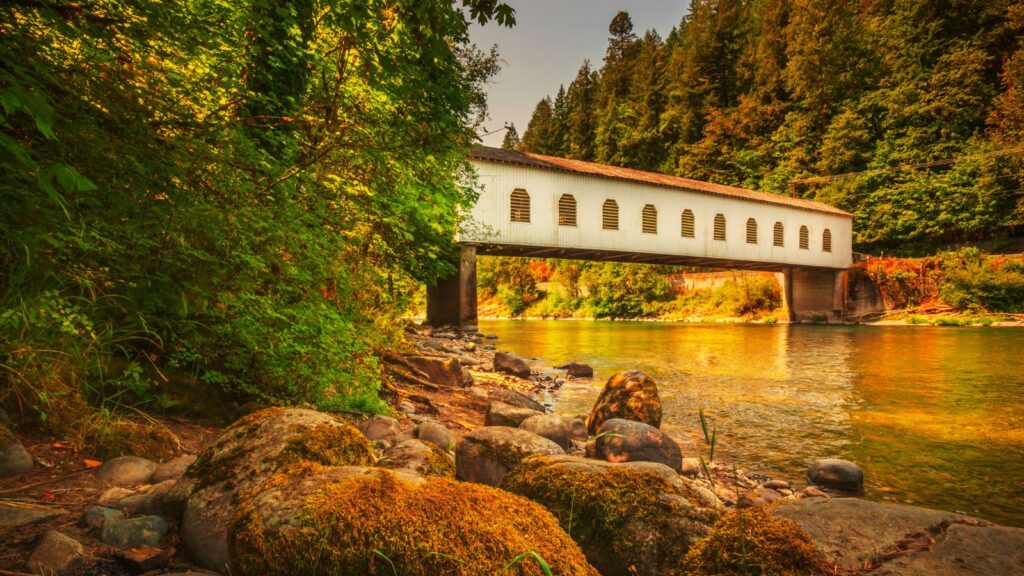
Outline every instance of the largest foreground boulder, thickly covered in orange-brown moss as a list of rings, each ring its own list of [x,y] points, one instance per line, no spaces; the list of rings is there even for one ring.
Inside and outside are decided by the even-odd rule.
[[[532,550],[560,576],[597,576],[543,507],[447,479],[298,464],[243,501],[232,574],[501,574]],[[524,559],[517,574],[540,574]],[[511,573],[511,571],[509,572]]]

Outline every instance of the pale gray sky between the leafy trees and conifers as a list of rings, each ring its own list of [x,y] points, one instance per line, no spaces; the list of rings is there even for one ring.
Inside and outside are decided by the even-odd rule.
[[[633,18],[637,36],[654,29],[665,38],[687,12],[689,0],[507,0],[515,8],[516,25],[495,23],[470,32],[480,49],[497,44],[502,71],[487,89],[490,120],[487,130],[515,124],[519,135],[537,102],[554,96],[559,84],[568,87],[583,60],[601,68],[608,45],[608,24],[620,11]],[[482,131],[482,130],[481,130]],[[501,146],[505,131],[483,137],[487,146]]]

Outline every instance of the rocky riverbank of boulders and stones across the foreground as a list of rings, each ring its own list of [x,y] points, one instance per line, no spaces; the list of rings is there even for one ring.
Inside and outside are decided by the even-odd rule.
[[[555,414],[543,399],[588,366],[454,330],[406,340],[385,359],[393,416],[265,409],[191,454],[49,480],[52,444],[5,434],[0,574],[1024,573],[1024,530],[849,497],[853,463],[805,483],[683,454],[641,371]]]

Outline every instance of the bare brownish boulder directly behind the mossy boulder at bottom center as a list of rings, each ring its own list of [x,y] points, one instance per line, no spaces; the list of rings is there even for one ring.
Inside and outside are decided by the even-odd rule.
[[[564,454],[564,451],[530,431],[507,426],[477,428],[464,436],[456,448],[456,477],[498,486],[516,464],[537,454]]]

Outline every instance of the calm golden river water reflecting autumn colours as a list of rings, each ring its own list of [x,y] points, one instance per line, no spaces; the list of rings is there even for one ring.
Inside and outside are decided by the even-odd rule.
[[[863,466],[866,497],[1024,526],[1024,330],[926,326],[482,321],[500,349],[586,362],[593,382],[549,400],[590,411],[605,379],[654,377],[663,428],[727,462],[803,485],[820,457]]]

